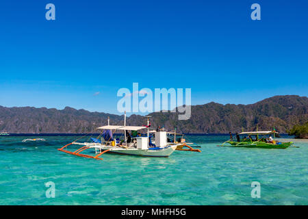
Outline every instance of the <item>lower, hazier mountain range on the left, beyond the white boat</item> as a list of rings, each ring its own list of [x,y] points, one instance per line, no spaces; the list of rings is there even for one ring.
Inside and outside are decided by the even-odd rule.
[[[107,117],[118,122],[123,116],[75,110],[45,107],[1,107],[0,131],[10,133],[88,133],[107,123]]]

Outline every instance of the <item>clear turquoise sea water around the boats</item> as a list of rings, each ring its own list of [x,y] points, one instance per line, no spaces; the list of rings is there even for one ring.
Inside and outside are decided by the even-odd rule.
[[[103,161],[57,151],[76,137],[0,137],[0,205],[308,205],[308,142],[246,149],[216,146],[228,136],[188,137],[202,153]],[[55,198],[46,197],[49,181]],[[253,181],[261,198],[251,197]]]

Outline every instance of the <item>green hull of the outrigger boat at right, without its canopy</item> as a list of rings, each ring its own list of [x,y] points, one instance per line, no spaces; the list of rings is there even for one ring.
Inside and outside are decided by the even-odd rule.
[[[230,145],[222,145],[222,146],[233,146],[233,147],[245,147],[245,148],[260,148],[260,149],[287,149],[292,142],[281,142],[281,144],[271,144],[266,142],[233,142],[228,141]]]

